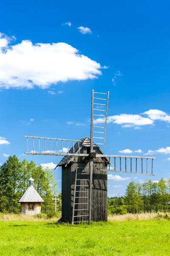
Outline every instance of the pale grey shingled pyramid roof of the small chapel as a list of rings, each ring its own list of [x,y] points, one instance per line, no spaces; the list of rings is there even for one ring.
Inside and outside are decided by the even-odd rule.
[[[18,203],[26,203],[26,202],[40,202],[43,203],[44,200],[40,197],[38,192],[34,189],[33,186],[29,186],[23,196],[20,198]]]

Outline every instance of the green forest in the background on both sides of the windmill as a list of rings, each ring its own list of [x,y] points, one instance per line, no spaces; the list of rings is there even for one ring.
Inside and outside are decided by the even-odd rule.
[[[42,213],[54,212],[53,194],[57,191],[54,172],[42,169],[34,161],[20,160],[9,156],[0,166],[0,212],[19,213],[18,200],[28,188],[28,179],[32,176],[34,187],[45,203]],[[61,194],[58,196],[61,199]],[[127,185],[125,196],[108,198],[108,214],[122,215],[142,212],[170,212],[170,178],[159,181],[131,181]],[[57,201],[57,210],[61,211],[61,200]]]

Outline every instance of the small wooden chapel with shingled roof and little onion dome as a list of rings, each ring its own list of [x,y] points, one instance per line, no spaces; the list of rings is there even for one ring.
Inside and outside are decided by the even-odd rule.
[[[21,213],[26,215],[35,215],[41,213],[41,203],[44,203],[44,200],[34,189],[33,178],[31,177],[28,181],[29,187],[23,194],[23,196],[20,198],[18,203],[21,204]]]

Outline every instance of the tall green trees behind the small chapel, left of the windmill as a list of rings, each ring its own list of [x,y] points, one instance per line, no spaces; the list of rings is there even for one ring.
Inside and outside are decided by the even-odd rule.
[[[29,186],[28,179],[34,179],[34,188],[44,200],[41,212],[54,211],[53,194],[57,191],[54,173],[47,167],[37,166],[34,161],[24,159],[22,162],[14,155],[0,166],[0,212],[18,213],[18,200]],[[60,202],[57,201],[60,208]]]

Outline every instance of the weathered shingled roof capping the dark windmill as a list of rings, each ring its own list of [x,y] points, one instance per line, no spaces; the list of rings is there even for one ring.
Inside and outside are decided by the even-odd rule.
[[[82,147],[90,147],[91,146],[91,140],[89,137],[85,137],[82,138],[81,140],[79,140],[79,144],[78,142],[74,145],[74,151],[73,151],[73,147],[68,151],[68,153],[70,154],[77,154],[79,153],[79,148],[81,149]],[[93,143],[93,146],[96,148],[99,148],[95,143]],[[99,150],[101,151],[101,153],[103,154],[102,150],[99,148]],[[62,166],[62,165],[66,165],[68,163],[71,162],[71,160],[73,159],[74,156],[64,156],[62,158],[62,160],[57,164],[57,166]],[[108,159],[107,159],[108,160]],[[57,167],[56,166],[56,167]]]

